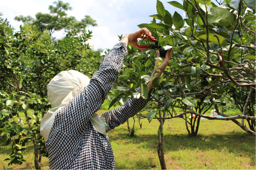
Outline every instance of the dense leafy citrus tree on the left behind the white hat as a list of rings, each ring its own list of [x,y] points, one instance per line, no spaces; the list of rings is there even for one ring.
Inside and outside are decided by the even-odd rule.
[[[64,70],[93,75],[102,56],[86,42],[92,37],[89,30],[83,34],[71,30],[61,40],[24,30],[21,26],[14,32],[7,19],[0,17],[0,134],[6,145],[12,146],[5,159],[8,165],[26,161],[23,153],[27,142],[32,142],[35,168],[40,169],[42,156],[48,156],[40,135],[40,121],[51,108],[47,84]]]

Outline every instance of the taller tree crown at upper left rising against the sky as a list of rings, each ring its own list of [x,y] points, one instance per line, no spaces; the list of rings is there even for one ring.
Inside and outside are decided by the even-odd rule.
[[[50,36],[55,31],[65,30],[78,30],[79,33],[85,33],[85,28],[89,25],[97,26],[96,20],[92,19],[89,15],[85,15],[81,21],[75,19],[74,16],[67,16],[66,13],[72,10],[69,3],[64,3],[63,1],[55,1],[54,5],[49,5],[50,13],[43,14],[38,12],[35,15],[35,19],[31,16],[15,16],[14,20],[21,21],[24,24],[35,25],[39,31],[49,31]]]

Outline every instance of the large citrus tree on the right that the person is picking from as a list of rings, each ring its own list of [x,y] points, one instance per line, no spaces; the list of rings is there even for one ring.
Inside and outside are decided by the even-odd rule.
[[[184,0],[166,5],[173,5],[184,13],[169,12],[157,0],[158,14],[150,16],[153,18],[151,23],[138,25],[139,28],[148,28],[159,46],[173,47],[164,74],[154,79],[155,88],[149,94],[144,83],[154,78],[149,75],[158,48],[140,51],[128,46],[128,57],[117,83],[119,86],[109,94],[113,99],[111,104],[117,101],[122,104],[128,97],[152,97],[146,107],[149,113],[144,117],[149,122],[152,119],[160,122],[158,154],[162,169],[166,168],[161,128],[165,119],[184,115],[189,136],[197,136],[201,117],[233,121],[255,136],[255,109],[249,112],[250,108],[255,108],[255,1]],[[154,43],[140,42],[149,46]],[[141,87],[140,93],[135,91],[138,87]],[[240,91],[244,91],[243,97],[237,100],[238,97],[232,94]],[[239,106],[241,112],[236,115],[225,113],[223,108],[228,102]],[[183,112],[177,113],[175,108]],[[211,108],[222,117],[205,115]]]

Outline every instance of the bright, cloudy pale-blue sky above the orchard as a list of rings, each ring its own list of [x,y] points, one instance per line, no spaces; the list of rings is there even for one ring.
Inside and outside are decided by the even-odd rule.
[[[19,15],[30,15],[35,18],[37,12],[49,13],[48,6],[55,0],[0,0],[0,13],[2,18],[7,18],[11,26],[19,31],[21,22],[13,18]],[[152,17],[157,14],[156,0],[62,0],[70,3],[73,10],[68,11],[68,16],[74,16],[81,20],[85,15],[90,15],[96,20],[97,27],[87,27],[93,31],[92,39],[88,42],[96,50],[98,48],[112,48],[118,43],[118,35],[126,35],[138,30],[139,24],[150,23]],[[172,0],[161,0],[164,7],[172,15],[177,11],[183,16],[183,10],[168,4]],[[182,0],[176,0],[183,3]],[[66,35],[64,31],[53,33],[58,39]]]

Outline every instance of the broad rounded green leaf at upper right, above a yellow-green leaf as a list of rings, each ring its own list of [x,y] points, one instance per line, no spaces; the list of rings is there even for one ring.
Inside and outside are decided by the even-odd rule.
[[[232,25],[234,22],[233,14],[225,8],[211,8],[208,12],[208,24],[218,23],[226,27]]]

